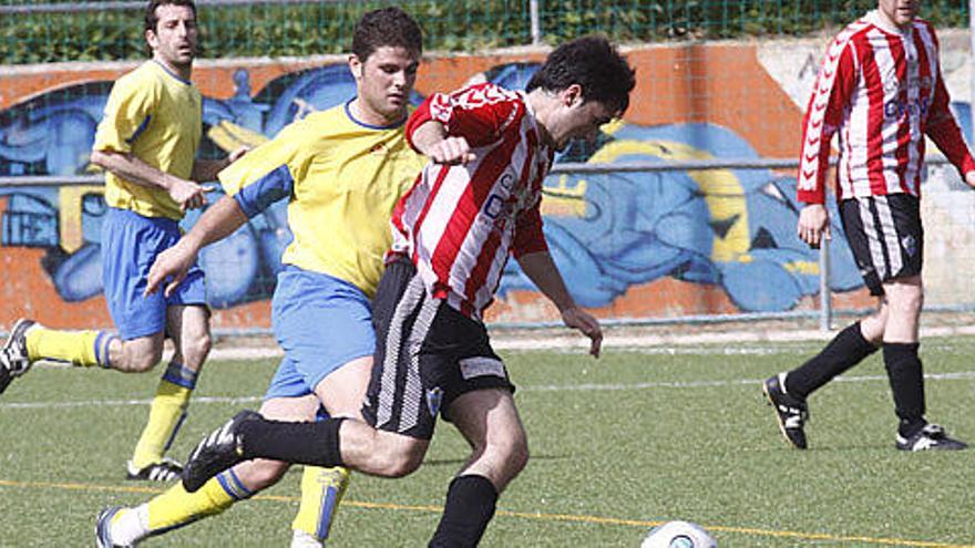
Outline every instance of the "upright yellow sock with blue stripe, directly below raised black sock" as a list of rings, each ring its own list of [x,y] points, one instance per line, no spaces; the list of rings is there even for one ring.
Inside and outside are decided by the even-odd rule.
[[[301,505],[291,529],[305,531],[318,540],[327,539],[348,486],[348,468],[306,466],[301,474]]]

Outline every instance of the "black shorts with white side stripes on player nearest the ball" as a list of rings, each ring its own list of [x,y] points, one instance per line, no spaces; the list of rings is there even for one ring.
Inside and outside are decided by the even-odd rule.
[[[438,412],[450,420],[458,396],[514,392],[484,324],[431,298],[412,262],[387,267],[372,308],[376,354],[362,406],[371,426],[430,440]]]

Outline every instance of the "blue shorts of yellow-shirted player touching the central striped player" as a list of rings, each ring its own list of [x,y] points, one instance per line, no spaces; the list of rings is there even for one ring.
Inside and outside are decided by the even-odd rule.
[[[290,265],[278,275],[271,324],[285,358],[265,400],[311,394],[329,373],[376,349],[372,304],[361,289]]]

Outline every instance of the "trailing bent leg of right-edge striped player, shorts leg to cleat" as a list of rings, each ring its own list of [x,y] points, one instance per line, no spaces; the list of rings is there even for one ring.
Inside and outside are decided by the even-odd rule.
[[[881,298],[881,275],[885,272],[886,261],[883,255],[876,252],[878,221],[870,215],[872,207],[873,198],[845,199],[840,203],[840,217],[850,250],[868,289],[871,294]],[[776,410],[780,432],[793,447],[807,447],[807,399],[876,352],[883,337],[885,318],[886,309],[881,302],[876,313],[846,325],[805,363],[764,381],[762,392]]]

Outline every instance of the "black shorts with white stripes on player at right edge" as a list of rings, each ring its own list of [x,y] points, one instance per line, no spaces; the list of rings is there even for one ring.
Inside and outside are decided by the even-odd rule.
[[[853,259],[870,289],[883,296],[883,283],[920,275],[924,259],[921,201],[910,194],[849,198],[840,218]]]

